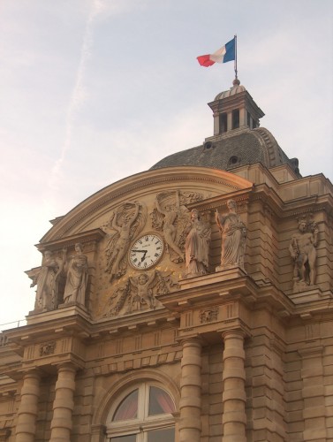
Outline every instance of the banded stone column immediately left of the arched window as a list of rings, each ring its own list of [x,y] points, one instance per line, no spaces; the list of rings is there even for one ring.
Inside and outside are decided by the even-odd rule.
[[[71,442],[75,373],[72,363],[64,363],[58,367],[49,442]]]

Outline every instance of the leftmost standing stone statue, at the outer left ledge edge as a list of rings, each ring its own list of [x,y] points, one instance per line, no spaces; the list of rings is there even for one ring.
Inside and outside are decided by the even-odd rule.
[[[42,268],[34,277],[31,287],[37,285],[34,309],[43,311],[57,309],[58,279],[63,270],[63,262],[52,252],[45,250]]]

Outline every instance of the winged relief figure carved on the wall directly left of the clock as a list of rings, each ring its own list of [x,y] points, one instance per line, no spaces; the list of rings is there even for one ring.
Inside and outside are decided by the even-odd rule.
[[[134,207],[133,207],[134,206]],[[110,227],[116,233],[110,237],[106,248],[107,266],[110,273],[110,281],[119,278],[125,273],[121,268],[121,262],[129,248],[132,238],[132,226],[138,218],[140,211],[139,202],[128,202],[113,213],[110,218]]]

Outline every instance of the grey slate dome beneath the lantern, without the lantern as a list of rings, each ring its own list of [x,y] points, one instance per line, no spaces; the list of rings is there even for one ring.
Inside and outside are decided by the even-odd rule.
[[[261,163],[268,169],[289,164],[298,173],[296,164],[285,155],[273,135],[263,127],[238,129],[211,137],[201,146],[166,156],[150,169],[191,165],[230,171],[246,164]]]

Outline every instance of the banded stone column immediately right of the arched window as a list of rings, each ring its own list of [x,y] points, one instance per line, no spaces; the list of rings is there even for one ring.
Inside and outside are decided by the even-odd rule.
[[[179,442],[201,440],[201,339],[183,341]]]

